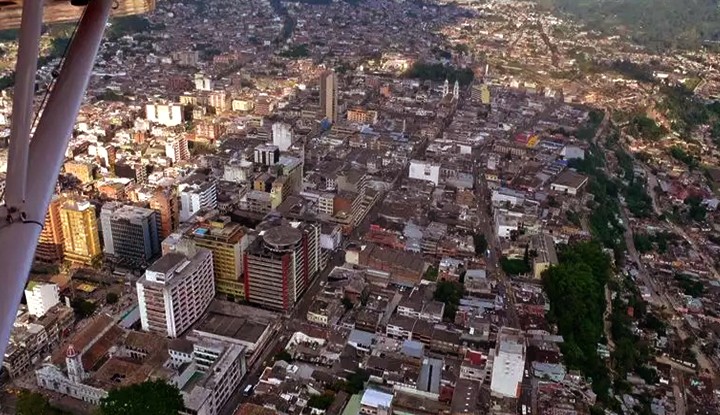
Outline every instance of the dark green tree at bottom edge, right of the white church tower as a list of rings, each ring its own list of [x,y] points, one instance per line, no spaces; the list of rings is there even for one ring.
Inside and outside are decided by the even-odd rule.
[[[180,391],[163,380],[113,389],[100,401],[102,415],[176,415],[184,407]]]

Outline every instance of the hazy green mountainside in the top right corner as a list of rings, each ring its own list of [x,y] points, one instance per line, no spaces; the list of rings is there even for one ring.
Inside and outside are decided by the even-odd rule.
[[[536,0],[656,50],[720,41],[720,0]]]

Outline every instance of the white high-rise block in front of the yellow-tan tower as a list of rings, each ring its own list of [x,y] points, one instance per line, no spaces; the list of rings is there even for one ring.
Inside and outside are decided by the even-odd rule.
[[[163,255],[137,282],[143,330],[178,337],[205,312],[214,292],[212,252]]]

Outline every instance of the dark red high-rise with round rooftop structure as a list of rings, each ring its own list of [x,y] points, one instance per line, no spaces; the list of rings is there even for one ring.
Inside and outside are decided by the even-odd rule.
[[[288,311],[320,271],[320,226],[295,222],[261,231],[245,251],[245,299]]]

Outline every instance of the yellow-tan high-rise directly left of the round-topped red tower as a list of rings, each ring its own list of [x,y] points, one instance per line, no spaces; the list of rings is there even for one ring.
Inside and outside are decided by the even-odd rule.
[[[212,251],[215,290],[219,294],[243,298],[243,252],[248,239],[243,227],[228,217],[218,217],[198,225],[188,236],[197,246]]]

